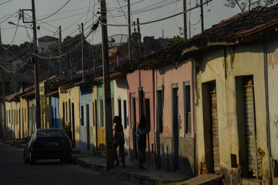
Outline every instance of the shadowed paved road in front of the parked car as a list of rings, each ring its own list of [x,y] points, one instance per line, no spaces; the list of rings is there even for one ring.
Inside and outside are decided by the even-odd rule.
[[[0,142],[0,184],[137,184],[122,180],[113,172],[101,173],[79,167],[75,164],[62,164],[59,160],[38,160],[35,165],[23,163],[23,149]]]

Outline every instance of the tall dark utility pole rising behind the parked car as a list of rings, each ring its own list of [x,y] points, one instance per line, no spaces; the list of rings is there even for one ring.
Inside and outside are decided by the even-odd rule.
[[[35,94],[36,94],[36,128],[41,128],[41,103],[40,103],[40,90],[39,90],[39,67],[37,54],[37,30],[36,30],[36,15],[35,15],[35,2],[32,0],[32,17],[33,17],[33,37],[34,37],[34,71],[35,71]]]

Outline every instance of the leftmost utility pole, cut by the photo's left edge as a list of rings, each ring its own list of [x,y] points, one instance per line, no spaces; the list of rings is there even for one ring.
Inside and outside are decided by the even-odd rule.
[[[0,59],[2,59],[2,40],[1,40],[1,28],[0,28]],[[3,103],[3,138],[7,140],[7,123],[6,123],[6,95],[5,95],[5,80],[4,69],[1,68],[2,75],[2,103]],[[2,129],[2,126],[1,126]]]

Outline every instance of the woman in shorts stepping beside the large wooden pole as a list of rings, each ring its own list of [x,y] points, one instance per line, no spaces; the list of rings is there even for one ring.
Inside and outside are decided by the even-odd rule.
[[[122,127],[122,118],[120,116],[114,116],[113,123],[115,125],[115,135],[113,137],[114,140],[114,158],[116,160],[115,166],[120,166],[118,155],[117,155],[117,148],[120,145],[120,153],[122,155],[122,166],[125,167],[125,152],[124,152],[124,145],[125,145],[125,135],[124,129]]]

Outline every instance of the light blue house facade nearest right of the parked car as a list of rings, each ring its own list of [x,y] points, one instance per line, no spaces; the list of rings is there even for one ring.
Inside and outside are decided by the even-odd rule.
[[[93,154],[93,144],[91,142],[91,137],[89,136],[90,141],[90,150],[87,151],[87,110],[86,104],[89,104],[89,126],[93,126],[93,115],[92,115],[92,86],[85,86],[79,88],[79,115],[81,119],[81,106],[83,106],[83,115],[84,115],[84,126],[80,126],[80,152]],[[89,129],[90,133],[92,129]],[[92,133],[91,133],[92,134]],[[90,134],[90,135],[91,135]]]

